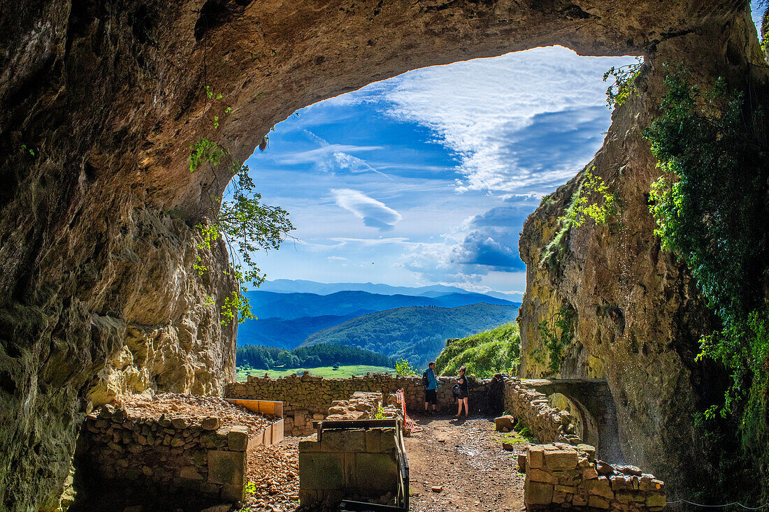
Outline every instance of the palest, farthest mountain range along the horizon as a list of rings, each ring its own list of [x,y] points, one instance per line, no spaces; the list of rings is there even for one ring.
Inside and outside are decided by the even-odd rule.
[[[310,293],[319,295],[333,294],[338,291],[368,291],[371,294],[381,295],[424,295],[426,297],[437,297],[441,294],[469,294],[474,293],[455,286],[444,286],[443,284],[431,284],[430,286],[408,287],[391,286],[390,284],[376,283],[318,283],[317,281],[305,281],[303,279],[275,279],[265,281],[259,287],[261,291],[275,291],[281,294],[285,293]],[[504,294],[500,291],[489,291],[488,297],[501,298],[506,301],[513,301],[519,294]]]

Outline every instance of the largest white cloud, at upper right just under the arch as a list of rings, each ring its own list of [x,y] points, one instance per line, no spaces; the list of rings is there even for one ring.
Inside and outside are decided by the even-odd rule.
[[[611,117],[601,75],[630,62],[534,48],[410,71],[332,101],[384,98],[390,115],[430,128],[460,161],[458,191],[547,190],[600,148]]]

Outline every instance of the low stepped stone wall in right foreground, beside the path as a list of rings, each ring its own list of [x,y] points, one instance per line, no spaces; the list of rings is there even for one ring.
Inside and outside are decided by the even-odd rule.
[[[638,467],[595,460],[588,444],[533,444],[526,451],[526,510],[657,512],[665,506],[664,482]]]

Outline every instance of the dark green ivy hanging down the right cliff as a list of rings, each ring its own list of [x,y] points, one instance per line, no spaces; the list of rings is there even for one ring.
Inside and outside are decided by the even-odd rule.
[[[747,457],[758,462],[765,479],[769,123],[755,97],[746,101],[721,79],[704,91],[678,69],[665,84],[661,115],[644,133],[665,173],[651,187],[649,208],[662,247],[687,264],[721,320],[719,330],[702,337],[698,358],[720,361],[732,377],[723,404],[712,404],[699,423],[718,436],[736,426]],[[731,470],[727,457],[721,464]]]

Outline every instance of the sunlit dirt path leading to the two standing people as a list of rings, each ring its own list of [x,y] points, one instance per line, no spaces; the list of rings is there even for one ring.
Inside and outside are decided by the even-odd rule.
[[[524,509],[524,477],[515,451],[504,451],[494,421],[451,416],[421,417],[424,430],[406,438],[411,510],[518,512]],[[432,487],[440,486],[435,492]]]

